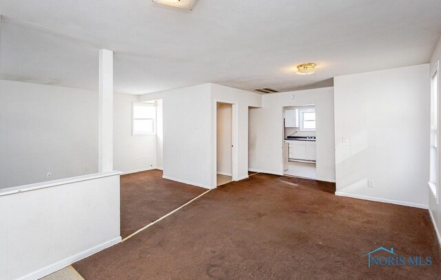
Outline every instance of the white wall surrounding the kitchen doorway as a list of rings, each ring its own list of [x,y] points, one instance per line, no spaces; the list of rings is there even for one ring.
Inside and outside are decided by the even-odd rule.
[[[294,96],[294,99],[293,99]],[[316,105],[317,179],[335,180],[333,88],[265,94],[249,112],[249,169],[283,174],[283,107]]]

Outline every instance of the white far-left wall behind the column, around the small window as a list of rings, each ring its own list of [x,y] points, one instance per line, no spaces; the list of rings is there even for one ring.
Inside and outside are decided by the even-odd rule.
[[[156,137],[132,136],[138,99],[114,94],[115,170],[156,166]],[[98,93],[0,80],[0,134],[0,188],[98,172]]]

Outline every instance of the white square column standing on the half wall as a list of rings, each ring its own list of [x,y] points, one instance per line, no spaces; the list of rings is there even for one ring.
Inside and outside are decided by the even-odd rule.
[[[113,170],[113,52],[99,51],[98,171]]]

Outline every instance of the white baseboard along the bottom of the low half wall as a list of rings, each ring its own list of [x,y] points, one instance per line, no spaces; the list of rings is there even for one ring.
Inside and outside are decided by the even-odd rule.
[[[74,263],[76,261],[80,261],[81,259],[89,257],[92,254],[96,254],[97,252],[102,251],[106,248],[109,248],[110,246],[114,246],[116,243],[120,243],[120,242],[121,242],[121,237],[116,237],[114,239],[111,239],[109,241],[101,243],[98,246],[95,246],[93,248],[90,248],[88,250],[80,252],[79,254],[75,254],[72,257],[68,257],[67,259],[62,259],[61,261],[57,261],[56,263],[52,263],[49,266],[46,266],[45,268],[41,268],[37,271],[31,272],[30,274],[27,274],[23,277],[20,277],[19,279],[20,280],[21,279],[23,279],[23,280],[40,279],[40,278],[45,277],[51,273],[54,273],[58,270],[61,270],[67,266],[70,266],[72,263]]]

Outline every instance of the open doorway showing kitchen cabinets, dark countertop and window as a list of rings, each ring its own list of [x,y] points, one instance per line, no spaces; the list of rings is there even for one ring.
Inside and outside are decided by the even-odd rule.
[[[283,108],[283,172],[316,179],[316,106]]]

